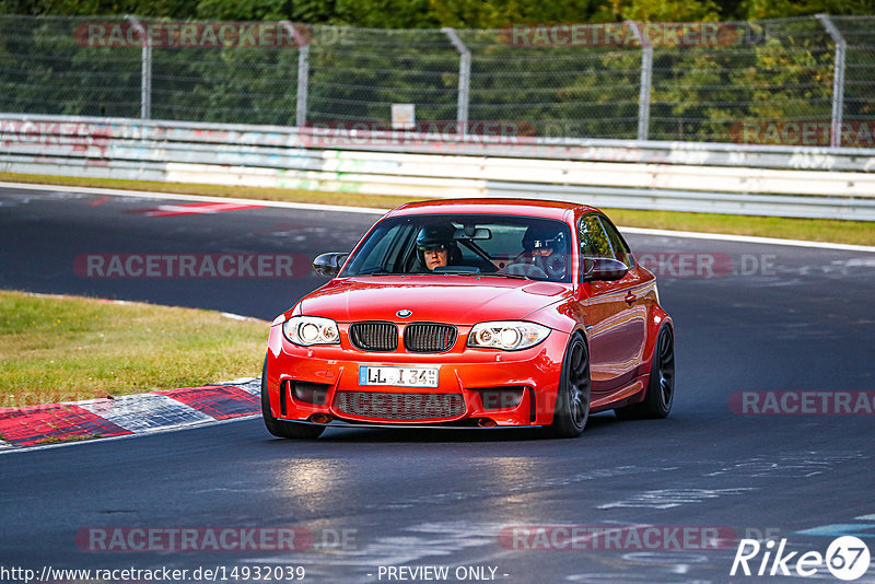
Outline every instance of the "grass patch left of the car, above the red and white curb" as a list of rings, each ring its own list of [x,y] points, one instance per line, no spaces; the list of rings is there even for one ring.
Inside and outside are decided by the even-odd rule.
[[[255,377],[268,326],[212,311],[0,291],[0,407]]]

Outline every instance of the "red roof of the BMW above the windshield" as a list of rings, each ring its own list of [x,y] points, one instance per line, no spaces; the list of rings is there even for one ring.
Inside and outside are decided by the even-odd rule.
[[[409,202],[393,209],[389,215],[483,213],[505,215],[529,215],[561,220],[568,211],[595,211],[586,205],[568,201],[537,199],[441,199]]]

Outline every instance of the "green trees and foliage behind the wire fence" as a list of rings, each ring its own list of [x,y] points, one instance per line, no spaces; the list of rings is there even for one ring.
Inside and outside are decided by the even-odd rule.
[[[440,31],[452,26],[471,52],[470,120],[518,122],[522,137],[615,139],[637,137],[641,47],[520,46],[506,27],[732,20],[716,46],[654,47],[649,126],[652,139],[728,141],[746,120],[828,121],[835,43],[810,15],[875,13],[875,0],[0,0],[0,12],[115,14],[0,15],[3,112],[139,116],[140,49],[80,46],[72,33],[82,23],[126,13],[143,22],[288,19],[314,24],[311,122],[385,124],[393,103],[416,104],[419,121],[454,120],[459,56]],[[745,21],[785,14],[802,16]],[[872,120],[875,21],[833,21],[848,39],[844,119]],[[152,58],[153,118],[294,122],[298,47],[156,47]]]

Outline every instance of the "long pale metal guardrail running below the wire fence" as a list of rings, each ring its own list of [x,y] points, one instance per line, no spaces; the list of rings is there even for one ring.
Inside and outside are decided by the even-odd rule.
[[[875,221],[875,149],[0,114],[13,173]]]

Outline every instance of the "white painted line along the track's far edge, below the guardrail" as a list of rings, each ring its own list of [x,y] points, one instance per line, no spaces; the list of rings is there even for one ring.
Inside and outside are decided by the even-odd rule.
[[[385,214],[389,209],[372,209],[369,207],[345,207],[342,205],[315,205],[306,202],[262,201],[258,199],[238,199],[230,197],[207,197],[201,195],[173,195],[168,192],[152,192],[148,190],[124,190],[116,188],[67,187],[63,185],[34,185],[30,183],[3,183],[0,188],[18,188],[24,190],[50,190],[84,192],[88,195],[112,195],[117,197],[140,197],[149,199],[186,200],[200,202],[236,202],[241,205],[260,205],[261,207],[277,207],[282,209],[307,209],[313,211],[328,211],[341,213]],[[452,200],[452,199],[442,199]],[[623,227],[625,233],[641,235],[661,235],[664,237],[685,237],[690,240],[718,240],[723,242],[754,243],[763,245],[793,245],[796,247],[816,247],[820,249],[840,249],[844,252],[875,253],[875,246],[851,245],[827,242],[806,242],[802,240],[781,240],[778,237],[756,237],[751,235],[728,235],[722,233],[700,233],[693,231],[670,231],[649,227]]]

